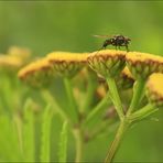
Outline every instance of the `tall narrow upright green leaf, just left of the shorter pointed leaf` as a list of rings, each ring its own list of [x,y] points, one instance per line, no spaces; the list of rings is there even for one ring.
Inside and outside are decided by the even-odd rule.
[[[51,161],[51,124],[53,118],[53,109],[48,105],[43,113],[43,123],[42,123],[42,144],[41,144],[41,162]]]

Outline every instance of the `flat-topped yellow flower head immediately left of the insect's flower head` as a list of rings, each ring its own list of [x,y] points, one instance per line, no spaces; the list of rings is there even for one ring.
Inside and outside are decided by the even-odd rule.
[[[86,65],[87,53],[53,52],[47,59],[57,74],[74,77]]]

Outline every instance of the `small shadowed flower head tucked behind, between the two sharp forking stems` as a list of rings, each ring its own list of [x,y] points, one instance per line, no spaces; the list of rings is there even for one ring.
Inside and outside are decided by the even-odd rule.
[[[116,82],[120,88],[128,89],[133,86],[134,78],[129,68],[126,66],[121,74],[117,77]]]

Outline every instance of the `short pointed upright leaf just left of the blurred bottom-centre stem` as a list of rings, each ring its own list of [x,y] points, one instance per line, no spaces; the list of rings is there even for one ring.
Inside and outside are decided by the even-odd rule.
[[[61,131],[61,140],[59,140],[59,148],[58,148],[58,162],[63,163],[66,162],[67,157],[67,121],[63,123],[63,129]]]

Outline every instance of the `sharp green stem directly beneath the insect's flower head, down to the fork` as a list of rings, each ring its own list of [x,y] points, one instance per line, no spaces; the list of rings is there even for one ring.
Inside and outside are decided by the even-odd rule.
[[[117,85],[116,85],[116,82],[113,78],[111,77],[108,77],[107,78],[107,83],[108,83],[108,86],[109,86],[109,91],[110,91],[110,95],[111,95],[111,100],[116,107],[116,110],[117,110],[117,113],[120,118],[120,120],[122,121],[123,120],[123,117],[124,117],[124,112],[123,112],[123,107],[122,107],[122,102],[121,102],[121,99],[119,97],[119,93],[118,93],[118,88],[117,88]]]

